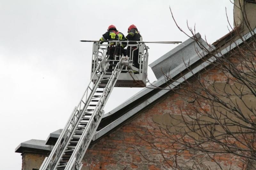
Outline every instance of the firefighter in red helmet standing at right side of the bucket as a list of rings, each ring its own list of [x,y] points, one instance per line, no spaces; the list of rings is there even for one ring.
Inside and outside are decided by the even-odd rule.
[[[128,35],[125,37],[128,41],[142,41],[142,36],[140,35],[140,32],[138,31],[137,27],[135,25],[130,25],[128,27]],[[137,42],[129,42],[129,44],[137,44]],[[132,50],[131,50],[132,48]],[[127,55],[131,58],[132,57],[132,51],[138,47],[128,47],[127,48]],[[131,51],[131,54],[130,54]],[[140,64],[138,61],[139,58],[139,48],[133,51],[133,66],[136,68],[140,68]]]

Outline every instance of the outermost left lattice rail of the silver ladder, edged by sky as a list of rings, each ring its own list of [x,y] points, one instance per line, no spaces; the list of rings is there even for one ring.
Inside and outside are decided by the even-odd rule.
[[[100,69],[100,64],[97,67],[97,70],[98,69]],[[96,71],[94,72],[93,76],[95,74],[96,74]],[[65,143],[67,143],[67,138],[71,137],[71,135],[68,135],[68,133],[70,133],[68,128],[70,127],[70,125],[71,125],[71,128],[74,127],[75,122],[77,122],[77,117],[79,117],[79,115],[80,115],[78,108],[81,107],[82,100],[83,100],[85,94],[88,92],[88,89],[89,89],[89,86],[90,86],[91,82],[92,81],[90,81],[89,85],[87,86],[87,89],[84,92],[84,94],[83,94],[80,102],[78,103],[77,107],[74,108],[72,114],[70,115],[70,117],[68,119],[68,122],[66,123],[64,129],[62,130],[62,132],[60,134],[60,137],[58,138],[56,144],[54,145],[48,159],[45,161],[44,164],[42,164],[42,169],[43,170],[51,169],[51,167],[54,166],[57,163],[56,162],[56,159],[58,159],[57,157],[61,156],[60,152],[62,150],[64,150],[64,147],[62,146],[62,144],[64,143],[64,145],[65,145]]]

